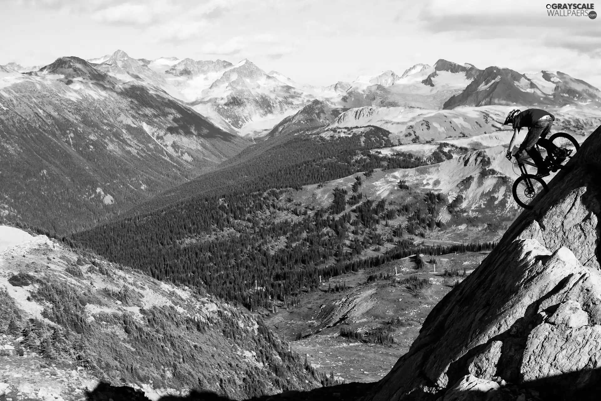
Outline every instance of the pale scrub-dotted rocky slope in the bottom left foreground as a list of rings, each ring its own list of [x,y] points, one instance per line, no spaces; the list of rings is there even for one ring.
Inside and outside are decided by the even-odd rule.
[[[99,381],[151,399],[193,388],[246,399],[321,379],[262,320],[203,290],[6,226],[0,304],[0,399],[82,400]]]

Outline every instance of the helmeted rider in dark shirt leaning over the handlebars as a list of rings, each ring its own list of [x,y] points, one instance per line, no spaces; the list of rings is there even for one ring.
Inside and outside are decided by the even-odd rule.
[[[521,112],[519,109],[511,110],[503,123],[504,125],[513,124],[513,136],[511,136],[509,150],[507,150],[505,157],[511,161],[511,156],[513,156],[511,155],[511,148],[513,148],[513,142],[516,140],[517,133],[520,132],[520,129],[528,127],[526,138],[514,156],[517,157],[525,150],[538,167],[536,175],[538,177],[548,176],[549,166],[545,163],[543,156],[540,155],[534,145],[538,141],[538,138],[545,138],[549,135],[553,121],[555,121],[555,116],[545,110],[528,109]]]

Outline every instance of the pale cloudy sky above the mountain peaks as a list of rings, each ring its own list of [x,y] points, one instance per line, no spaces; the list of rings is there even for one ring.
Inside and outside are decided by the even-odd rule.
[[[0,0],[0,64],[58,57],[248,58],[302,84],[443,58],[561,71],[601,88],[601,17],[549,16],[546,1]],[[601,2],[599,3],[601,9]],[[562,10],[567,11],[567,10]]]

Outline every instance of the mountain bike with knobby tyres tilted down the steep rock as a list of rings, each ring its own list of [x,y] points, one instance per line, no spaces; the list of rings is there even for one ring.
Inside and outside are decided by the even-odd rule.
[[[553,173],[566,167],[567,162],[574,157],[580,148],[578,141],[565,132],[555,133],[549,139],[539,138],[535,146]],[[513,163],[514,165],[517,164],[520,170],[520,177],[513,183],[513,198],[524,209],[532,209],[534,205],[531,204],[531,201],[540,192],[548,192],[549,188],[542,177],[537,177],[526,171],[526,165],[534,167],[537,167],[537,165],[532,162],[525,151],[520,153],[521,156],[519,153],[513,155],[516,158]]]

